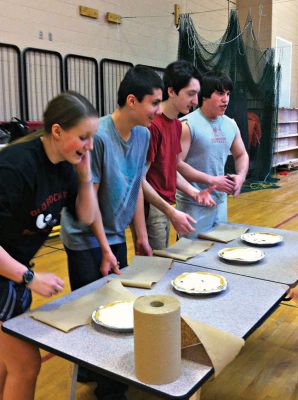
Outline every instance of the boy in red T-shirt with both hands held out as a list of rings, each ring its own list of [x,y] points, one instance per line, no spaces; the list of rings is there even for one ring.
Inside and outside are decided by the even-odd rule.
[[[182,125],[177,119],[198,104],[201,75],[188,61],[175,61],[164,72],[164,92],[161,114],[150,127],[147,154],[148,172],[143,180],[145,214],[149,243],[152,249],[168,246],[170,222],[179,235],[188,235],[196,221],[188,214],[176,210],[176,188],[191,196],[199,204],[212,207],[210,196],[214,188],[199,191],[176,170],[177,156],[181,153]]]

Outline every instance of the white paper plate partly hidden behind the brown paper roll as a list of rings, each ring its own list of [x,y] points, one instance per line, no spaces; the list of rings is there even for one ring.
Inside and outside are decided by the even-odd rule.
[[[118,332],[133,331],[134,301],[114,301],[98,307],[92,313],[96,325]]]

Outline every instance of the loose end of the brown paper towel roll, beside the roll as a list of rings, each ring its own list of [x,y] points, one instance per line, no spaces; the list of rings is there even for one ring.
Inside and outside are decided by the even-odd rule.
[[[245,343],[238,336],[185,316],[181,318],[181,336],[182,349],[202,344],[198,346],[198,350],[206,352],[213,365],[215,376],[218,376],[223,368],[234,360]],[[200,360],[202,360],[202,355]]]

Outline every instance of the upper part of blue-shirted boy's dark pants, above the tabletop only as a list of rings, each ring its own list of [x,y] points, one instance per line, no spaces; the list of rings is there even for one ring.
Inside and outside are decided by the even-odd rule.
[[[79,289],[88,283],[102,278],[99,267],[102,261],[102,252],[100,247],[89,250],[71,250],[65,247],[68,259],[68,274],[71,290]],[[126,243],[111,245],[111,250],[117,260],[120,268],[127,266],[127,248]]]

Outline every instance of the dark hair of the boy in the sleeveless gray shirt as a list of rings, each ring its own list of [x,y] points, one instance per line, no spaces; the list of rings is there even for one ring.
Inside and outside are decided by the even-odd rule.
[[[203,104],[203,99],[209,99],[213,92],[224,92],[233,90],[234,85],[231,78],[221,71],[208,71],[203,75],[201,92],[199,96],[199,107]]]

